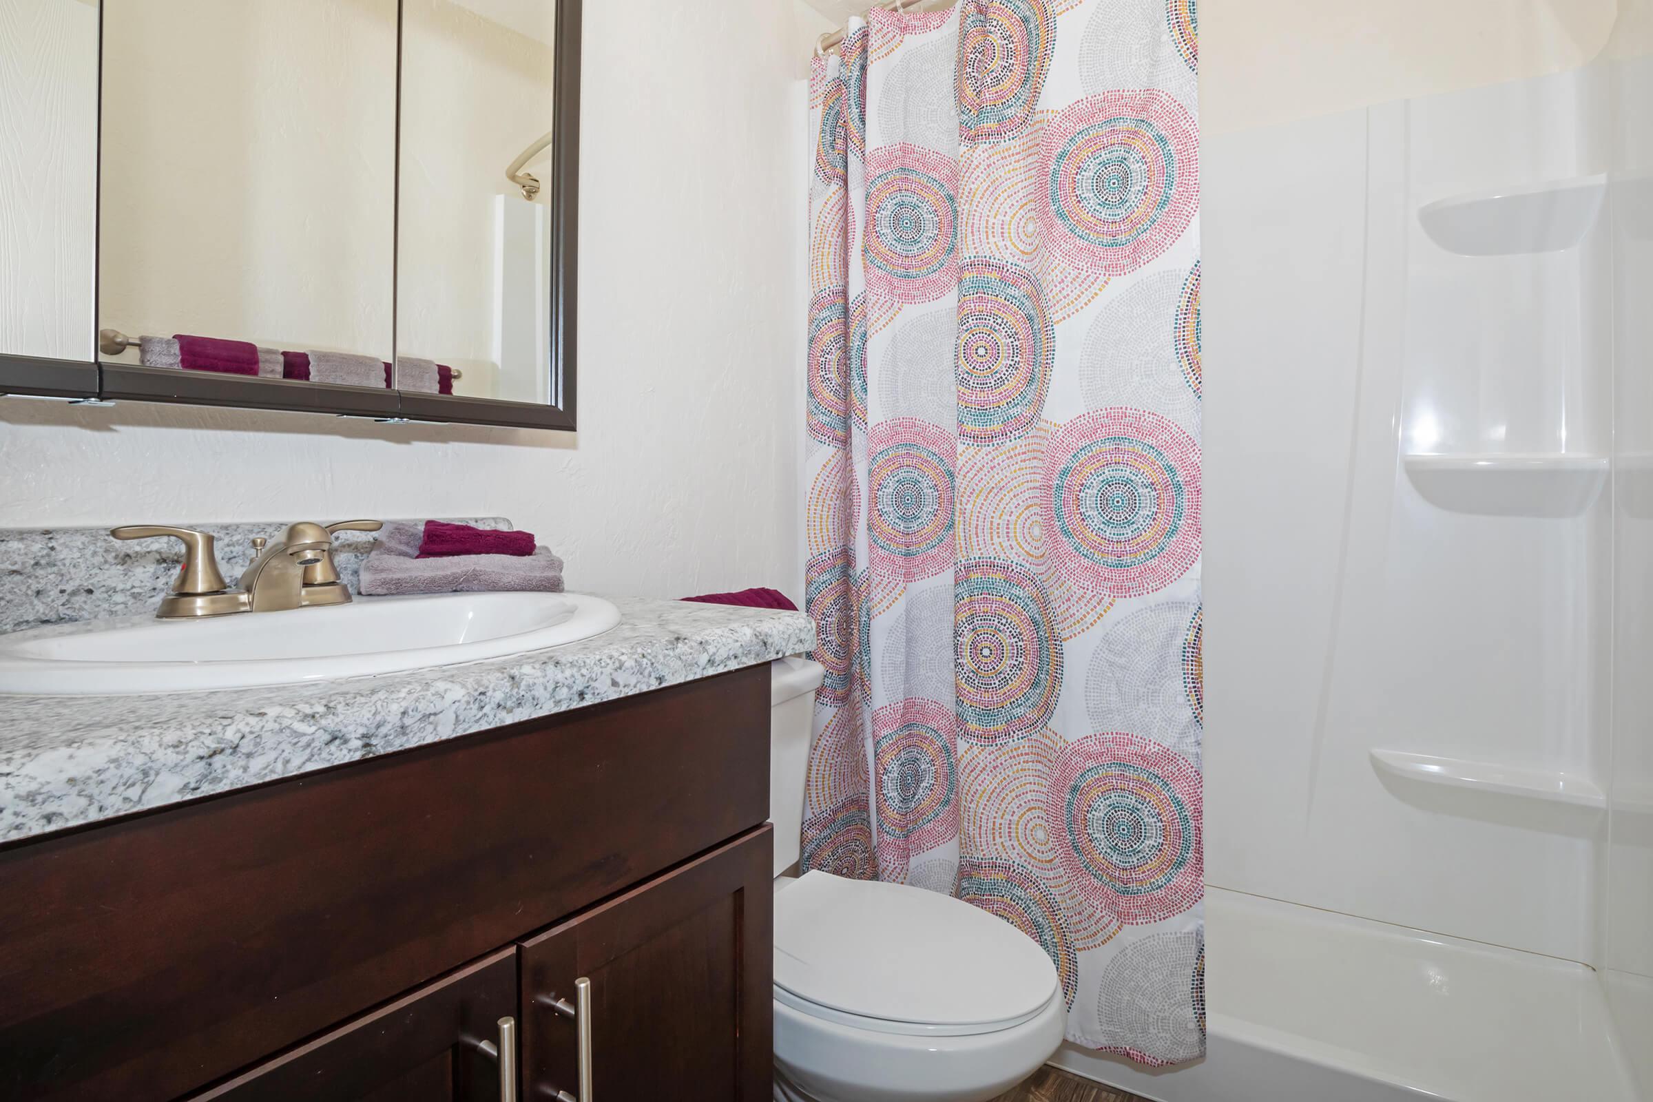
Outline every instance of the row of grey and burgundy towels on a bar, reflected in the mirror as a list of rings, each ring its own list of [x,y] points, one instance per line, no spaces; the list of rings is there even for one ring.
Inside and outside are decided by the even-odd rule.
[[[144,367],[177,367],[187,372],[258,375],[337,387],[383,387],[430,395],[453,393],[453,368],[436,360],[398,357],[400,378],[374,355],[350,352],[278,352],[248,340],[218,337],[139,337],[137,362]]]

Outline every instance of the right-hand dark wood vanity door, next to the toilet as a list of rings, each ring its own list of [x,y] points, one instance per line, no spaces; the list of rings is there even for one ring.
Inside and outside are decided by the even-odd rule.
[[[522,943],[527,1099],[584,1097],[579,978],[592,1097],[772,1097],[772,851],[762,826]]]

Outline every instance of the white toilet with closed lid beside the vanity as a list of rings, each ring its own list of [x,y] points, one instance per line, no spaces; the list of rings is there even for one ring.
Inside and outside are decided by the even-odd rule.
[[[1031,938],[957,899],[798,859],[822,667],[770,672],[777,1102],[985,1102],[1061,1044],[1056,968]]]

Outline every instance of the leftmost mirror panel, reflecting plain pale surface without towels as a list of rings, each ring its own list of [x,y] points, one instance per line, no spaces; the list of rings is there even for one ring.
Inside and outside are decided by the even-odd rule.
[[[0,0],[0,355],[89,362],[96,0]]]

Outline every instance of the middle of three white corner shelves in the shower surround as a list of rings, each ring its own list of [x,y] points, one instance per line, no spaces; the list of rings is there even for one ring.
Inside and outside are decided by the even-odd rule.
[[[1607,484],[1607,456],[1412,454],[1407,477],[1431,506],[1496,517],[1575,517]]]

